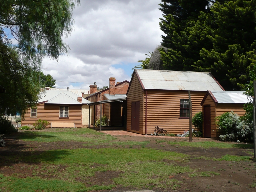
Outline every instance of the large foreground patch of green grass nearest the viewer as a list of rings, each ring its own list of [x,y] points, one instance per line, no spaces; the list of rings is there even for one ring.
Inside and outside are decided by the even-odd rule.
[[[15,162],[16,157],[8,161]],[[195,172],[188,166],[174,164],[174,162],[188,161],[187,155],[150,148],[50,150],[39,155],[25,154],[20,156],[20,161],[35,164],[30,166],[35,178],[18,179],[19,175],[4,177],[0,181],[0,188],[5,187],[6,191],[21,191],[21,188],[24,188],[24,191],[32,191],[30,189],[47,191],[44,186],[48,186],[51,188],[49,191],[77,191],[77,189],[88,191],[89,189],[84,188],[83,185],[86,179],[94,176],[95,172],[106,171],[118,172],[119,176],[113,180],[116,184],[127,187],[147,187],[153,184],[161,188],[176,188],[179,187],[179,182],[170,180],[169,175]],[[40,163],[43,166],[38,167]],[[65,170],[59,171],[59,166],[65,167]],[[55,179],[45,180],[40,179],[40,176],[52,176]],[[84,182],[79,183],[76,178]],[[40,183],[40,187],[36,187],[35,181]],[[21,185],[21,183],[24,184]],[[25,184],[28,187],[24,187]],[[70,184],[69,187],[67,187],[68,184]],[[100,187],[111,188],[111,186],[98,186],[94,190],[99,190]]]

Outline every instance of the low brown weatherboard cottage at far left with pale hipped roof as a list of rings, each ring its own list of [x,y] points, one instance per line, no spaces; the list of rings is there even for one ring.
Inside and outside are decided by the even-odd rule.
[[[49,127],[81,127],[82,106],[90,101],[70,91],[45,90],[35,108],[28,108],[21,125],[33,125],[38,119]]]

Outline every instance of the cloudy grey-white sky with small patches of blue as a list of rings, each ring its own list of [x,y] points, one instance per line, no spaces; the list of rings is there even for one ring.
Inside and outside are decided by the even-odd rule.
[[[161,43],[161,0],[81,0],[73,11],[74,30],[66,39],[68,56],[44,58],[42,71],[56,88],[89,89],[131,80],[132,68]],[[71,83],[78,82],[78,83]],[[82,84],[83,83],[83,84]]]

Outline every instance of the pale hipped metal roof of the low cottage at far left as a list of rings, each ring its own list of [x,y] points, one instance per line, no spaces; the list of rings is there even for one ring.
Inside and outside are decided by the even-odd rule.
[[[38,103],[44,102],[48,104],[87,104],[91,103],[90,101],[82,98],[82,103],[77,101],[77,98],[80,97],[70,91],[60,91],[60,90],[45,90],[41,93],[41,97],[38,100]]]

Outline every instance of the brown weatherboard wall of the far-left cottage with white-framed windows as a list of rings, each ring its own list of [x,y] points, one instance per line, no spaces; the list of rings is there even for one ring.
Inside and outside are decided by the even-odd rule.
[[[82,126],[82,105],[68,105],[68,119],[59,118],[60,105],[39,104],[37,105],[37,118],[30,117],[30,109],[26,111],[23,125],[33,125],[38,119],[51,122],[73,122],[76,127]]]

